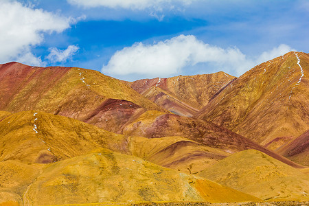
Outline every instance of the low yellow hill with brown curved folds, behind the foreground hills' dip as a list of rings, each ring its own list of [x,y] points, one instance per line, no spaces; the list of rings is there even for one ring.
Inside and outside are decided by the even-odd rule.
[[[130,137],[130,152],[157,165],[195,174],[230,154],[184,137]]]

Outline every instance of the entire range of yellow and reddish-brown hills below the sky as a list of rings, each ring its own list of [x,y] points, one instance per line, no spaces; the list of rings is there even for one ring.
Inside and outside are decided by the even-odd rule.
[[[309,54],[239,78],[0,65],[0,205],[309,203]]]

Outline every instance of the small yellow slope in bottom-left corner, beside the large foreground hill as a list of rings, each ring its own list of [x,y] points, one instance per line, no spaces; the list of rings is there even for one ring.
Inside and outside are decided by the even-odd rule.
[[[23,194],[27,186],[40,174],[41,168],[43,165],[40,164],[0,161],[0,205],[5,202],[23,203]]]

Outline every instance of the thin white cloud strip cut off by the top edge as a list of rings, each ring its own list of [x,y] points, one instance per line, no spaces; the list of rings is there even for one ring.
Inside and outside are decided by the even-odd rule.
[[[188,5],[196,0],[67,0],[73,5],[80,5],[86,8],[106,7],[106,8],[124,8],[132,10],[144,10],[153,8],[155,10],[163,10],[163,7],[168,6],[172,9],[175,4],[181,3]]]

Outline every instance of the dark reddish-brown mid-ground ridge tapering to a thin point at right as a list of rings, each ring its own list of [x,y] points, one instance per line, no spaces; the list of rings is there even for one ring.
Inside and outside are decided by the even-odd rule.
[[[211,122],[190,117],[165,114],[159,111],[147,111],[140,115],[134,122],[131,122],[126,128],[124,128],[124,135],[155,139],[161,137],[185,137],[201,144],[202,146],[221,150],[222,152],[225,152],[225,154],[232,154],[247,149],[255,149],[260,150],[275,159],[279,159],[279,161],[283,161],[288,165],[292,165],[295,168],[302,167],[297,163],[293,163],[292,161],[267,150],[250,139],[242,137],[241,135],[233,133]],[[176,144],[175,146],[179,148],[184,145]],[[181,149],[179,148],[178,150]],[[176,150],[172,150],[171,155],[174,152],[176,152]],[[196,157],[191,157],[200,158],[200,156],[201,155],[196,155]],[[183,155],[181,155],[181,157],[183,157]],[[207,157],[209,156],[207,155]],[[218,152],[214,152],[213,157],[215,160],[222,159],[222,157],[218,155]]]

